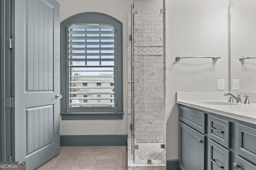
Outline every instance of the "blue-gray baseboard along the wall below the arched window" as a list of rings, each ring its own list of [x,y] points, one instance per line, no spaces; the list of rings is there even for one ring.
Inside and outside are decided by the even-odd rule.
[[[127,135],[60,135],[60,146],[127,146]]]

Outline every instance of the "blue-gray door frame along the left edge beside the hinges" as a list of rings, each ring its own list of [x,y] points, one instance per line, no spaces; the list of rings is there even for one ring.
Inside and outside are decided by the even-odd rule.
[[[14,96],[14,49],[6,47],[6,39],[14,38],[14,0],[0,2],[0,160],[13,161],[14,158],[14,108],[6,107],[6,98]]]

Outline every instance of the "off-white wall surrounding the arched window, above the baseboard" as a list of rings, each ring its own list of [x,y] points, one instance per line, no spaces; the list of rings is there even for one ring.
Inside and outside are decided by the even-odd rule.
[[[127,134],[127,13],[131,0],[57,0],[60,22],[82,12],[101,12],[123,23],[124,117],[122,120],[60,120],[60,135],[123,135]]]

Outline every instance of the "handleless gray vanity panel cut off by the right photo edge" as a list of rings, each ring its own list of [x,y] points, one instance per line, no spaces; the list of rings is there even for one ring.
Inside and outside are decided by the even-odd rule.
[[[256,128],[236,123],[236,152],[256,162]]]

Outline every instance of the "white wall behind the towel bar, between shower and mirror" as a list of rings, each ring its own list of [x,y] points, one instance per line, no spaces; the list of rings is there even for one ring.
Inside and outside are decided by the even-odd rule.
[[[229,82],[229,1],[166,1],[166,154],[178,159],[178,106],[176,92],[215,92],[217,80]],[[220,56],[181,59],[176,56]]]

